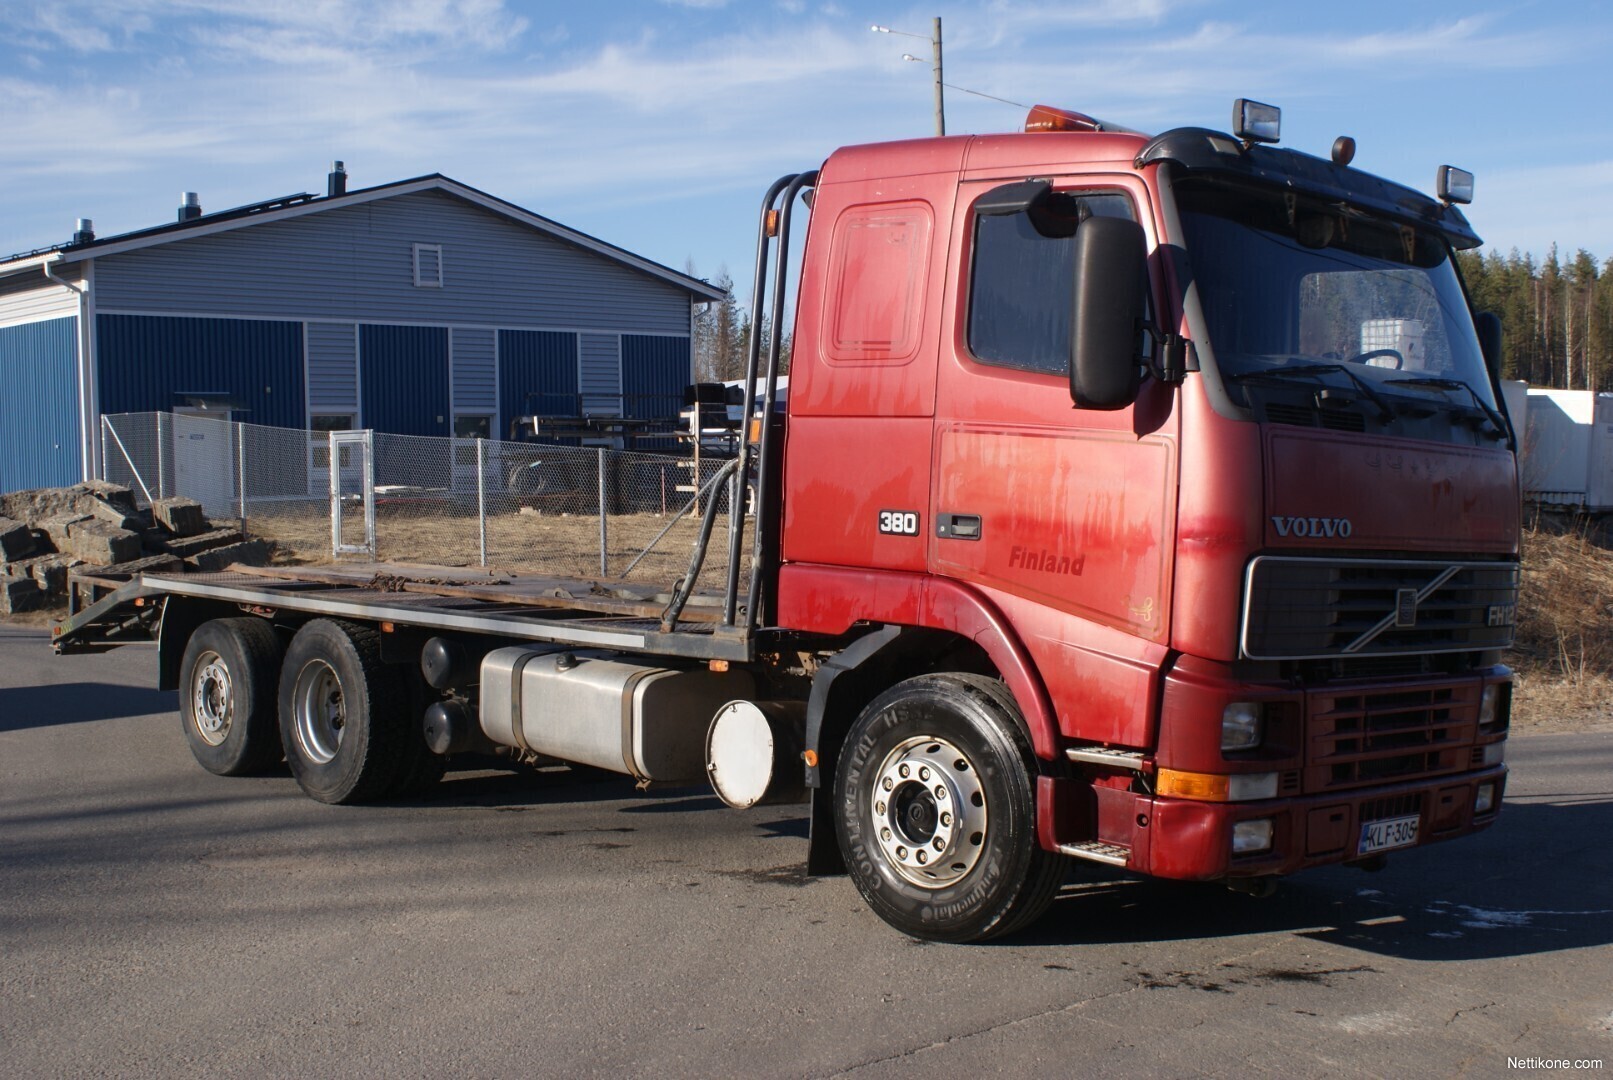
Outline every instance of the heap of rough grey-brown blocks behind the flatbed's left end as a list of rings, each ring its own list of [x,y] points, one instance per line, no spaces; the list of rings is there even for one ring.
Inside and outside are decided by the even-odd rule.
[[[102,480],[0,495],[0,614],[63,603],[69,572],[118,580],[268,561],[268,543],[208,521],[189,498],[139,509],[129,488]]]

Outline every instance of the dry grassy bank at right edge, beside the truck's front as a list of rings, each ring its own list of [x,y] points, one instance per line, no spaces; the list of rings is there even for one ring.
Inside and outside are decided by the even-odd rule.
[[[1518,730],[1613,730],[1613,551],[1587,530],[1524,535],[1508,663]]]

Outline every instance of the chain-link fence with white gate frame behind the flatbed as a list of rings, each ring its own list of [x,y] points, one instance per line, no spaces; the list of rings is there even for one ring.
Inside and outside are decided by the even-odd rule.
[[[216,524],[274,542],[287,561],[669,585],[687,572],[710,506],[698,584],[715,587],[727,575],[731,471],[724,456],[689,450],[306,432],[177,413],[102,417],[105,479],[144,503],[192,498]]]

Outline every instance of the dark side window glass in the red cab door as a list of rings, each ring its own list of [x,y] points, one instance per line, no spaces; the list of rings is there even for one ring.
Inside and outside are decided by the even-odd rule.
[[[1076,229],[1087,218],[1136,221],[1118,193],[1053,197],[1048,210],[974,219],[969,351],[1000,368],[1069,371]]]

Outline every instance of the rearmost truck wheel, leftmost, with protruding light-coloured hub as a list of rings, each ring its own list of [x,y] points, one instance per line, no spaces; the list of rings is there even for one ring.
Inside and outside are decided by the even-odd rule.
[[[281,759],[281,638],[263,619],[213,619],[190,635],[179,663],[179,719],[208,772],[250,775]]]

